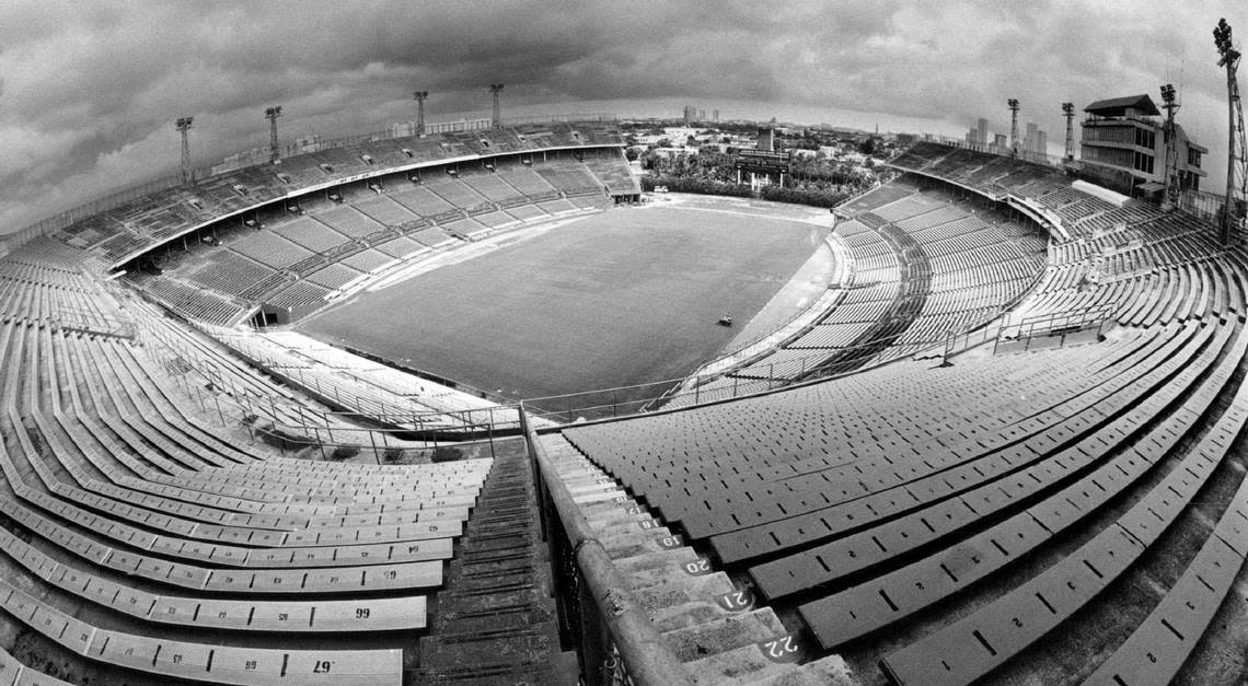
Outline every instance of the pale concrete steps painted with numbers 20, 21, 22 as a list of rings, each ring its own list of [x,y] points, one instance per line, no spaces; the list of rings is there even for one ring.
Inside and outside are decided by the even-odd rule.
[[[542,438],[547,457],[589,520],[638,602],[695,684],[804,686],[856,684],[839,656],[811,652],[770,607],[710,568],[562,435]]]

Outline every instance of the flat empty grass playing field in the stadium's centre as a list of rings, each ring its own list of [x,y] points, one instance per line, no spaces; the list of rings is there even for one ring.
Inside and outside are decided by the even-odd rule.
[[[744,326],[826,233],[706,210],[610,210],[297,328],[520,398],[649,383],[714,357],[738,331],[720,314]]]

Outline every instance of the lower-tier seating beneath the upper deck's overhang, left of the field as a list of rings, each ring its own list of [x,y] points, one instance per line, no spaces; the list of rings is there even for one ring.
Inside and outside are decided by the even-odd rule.
[[[594,160],[604,173],[614,170],[631,178],[623,157],[612,151],[617,157],[587,160]],[[522,168],[543,170],[547,165],[538,161]],[[288,323],[363,284],[366,274],[376,276],[398,266],[401,258],[422,256],[421,251],[391,256],[378,249],[396,239],[411,238],[446,251],[554,215],[600,210],[612,193],[628,195],[600,186],[592,198],[583,198],[588,202],[569,203],[563,196],[584,193],[585,187],[583,176],[567,170],[589,175],[589,167],[574,158],[549,165],[562,170],[557,178],[572,186],[547,183],[538,195],[525,196],[495,171],[453,165],[422,167],[418,183],[401,171],[338,185],[333,190],[337,200],[290,193],[251,210],[247,222],[223,220],[198,228],[197,233],[212,237],[210,241],[166,247],[157,278],[144,269],[131,269],[126,278],[193,319],[235,324],[258,317],[267,323]],[[563,205],[552,206],[555,202]]]

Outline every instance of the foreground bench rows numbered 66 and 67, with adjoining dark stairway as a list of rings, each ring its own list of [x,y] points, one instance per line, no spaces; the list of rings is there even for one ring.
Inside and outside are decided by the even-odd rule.
[[[79,271],[84,257],[36,239],[2,264],[20,281],[0,301],[0,360],[17,370],[0,384],[0,606],[6,634],[26,635],[6,646],[7,674],[401,684],[519,670],[568,682],[535,519],[514,513],[534,506],[523,448],[466,445],[470,459],[419,466],[382,466],[379,452],[373,465],[281,457],[248,432],[287,413],[313,435],[319,423],[342,440],[343,427],[116,299]],[[208,419],[243,387],[267,418]],[[557,659],[508,654],[469,619],[482,604],[513,607],[493,621],[514,615],[510,640],[542,636]]]

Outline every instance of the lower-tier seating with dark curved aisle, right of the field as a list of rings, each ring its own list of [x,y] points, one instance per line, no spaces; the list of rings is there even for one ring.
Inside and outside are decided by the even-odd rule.
[[[698,380],[696,399],[844,373],[982,329],[1043,273],[1041,227],[942,188],[896,182],[837,210],[829,237],[850,268],[810,326]],[[676,399],[673,405],[689,402]]]

